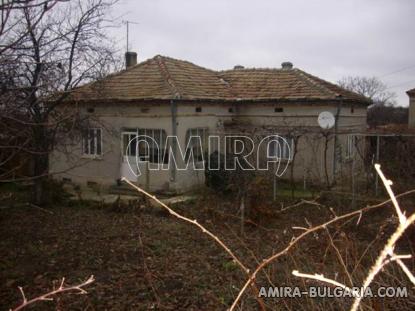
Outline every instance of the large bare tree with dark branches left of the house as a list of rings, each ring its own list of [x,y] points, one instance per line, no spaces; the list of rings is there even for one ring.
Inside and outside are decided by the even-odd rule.
[[[0,126],[7,132],[0,152],[3,162],[22,152],[31,159],[37,204],[49,152],[62,133],[80,128],[76,109],[63,109],[70,91],[117,63],[105,18],[115,1],[2,2]]]

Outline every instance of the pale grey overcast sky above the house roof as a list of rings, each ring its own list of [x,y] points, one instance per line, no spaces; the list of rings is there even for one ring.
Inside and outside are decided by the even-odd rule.
[[[336,82],[377,76],[408,105],[415,87],[414,0],[120,0],[139,61],[157,54],[212,69],[295,67]],[[116,30],[125,49],[125,26]],[[399,72],[397,72],[399,71]]]

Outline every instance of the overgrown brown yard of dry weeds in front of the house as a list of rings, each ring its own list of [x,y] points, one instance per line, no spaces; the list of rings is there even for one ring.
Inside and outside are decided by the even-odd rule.
[[[3,200],[0,209],[2,310],[21,303],[18,286],[31,298],[51,290],[62,277],[75,284],[90,275],[96,281],[85,288],[87,295],[66,293],[29,309],[225,310],[247,279],[230,256],[200,230],[143,202],[136,207],[71,202],[39,209],[11,206],[12,199]],[[254,269],[301,233],[293,227],[317,225],[350,210],[350,202],[341,197],[319,198],[324,206],[305,202],[281,211],[293,203],[286,201],[252,200],[244,237],[240,235],[237,204],[231,197],[204,193],[174,209],[206,225]],[[401,202],[404,208],[413,206],[410,197]],[[362,207],[367,203],[358,202]],[[295,269],[324,273],[348,284],[345,268],[354,285],[360,286],[367,268],[396,227],[391,215],[393,210],[386,205],[363,214],[359,222],[354,217],[332,225],[328,231],[310,234],[267,267],[266,274],[259,275],[258,287],[268,288],[269,281],[275,286],[301,288],[322,285],[292,276]],[[399,251],[414,254],[413,242],[411,231],[400,241]],[[413,271],[413,260],[406,263]],[[414,308],[413,289],[397,266],[389,265],[376,278],[374,286],[385,285],[408,286],[409,298],[365,299],[365,309]],[[276,310],[342,310],[351,300],[267,298],[264,302]],[[251,291],[244,294],[239,308],[257,310]]]

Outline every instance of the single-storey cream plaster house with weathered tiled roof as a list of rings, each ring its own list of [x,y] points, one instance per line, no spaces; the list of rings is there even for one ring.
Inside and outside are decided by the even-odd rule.
[[[67,106],[95,125],[82,142],[68,144],[70,155],[51,154],[50,170],[57,178],[111,186],[124,176],[152,191],[185,191],[205,180],[196,143],[206,153],[211,136],[222,146],[227,134],[255,132],[285,138],[288,147],[278,152],[288,166],[295,155],[296,179],[332,179],[350,157],[348,135],[366,130],[370,100],[290,62],[278,69],[214,71],[160,55],[137,64],[137,54],[127,52],[126,63],[125,70],[72,92]],[[330,130],[317,122],[324,111],[336,118]],[[304,136],[296,144],[294,132]],[[139,144],[141,135],[151,139]],[[168,142],[169,136],[178,139]],[[170,165],[183,167],[189,150],[199,166]]]

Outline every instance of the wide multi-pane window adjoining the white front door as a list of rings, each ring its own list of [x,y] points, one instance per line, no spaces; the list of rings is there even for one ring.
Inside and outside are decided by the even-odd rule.
[[[162,129],[137,129],[123,133],[124,156],[136,157],[150,163],[168,163],[166,131]]]

